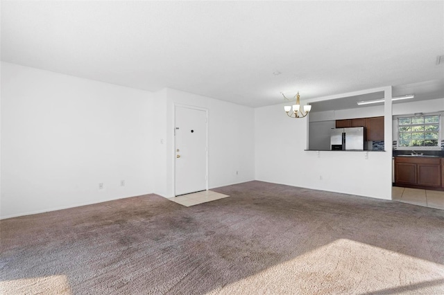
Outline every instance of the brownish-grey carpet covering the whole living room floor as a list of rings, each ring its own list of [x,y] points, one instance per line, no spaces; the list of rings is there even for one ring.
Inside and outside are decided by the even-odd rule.
[[[444,211],[252,181],[0,221],[1,294],[444,294]]]

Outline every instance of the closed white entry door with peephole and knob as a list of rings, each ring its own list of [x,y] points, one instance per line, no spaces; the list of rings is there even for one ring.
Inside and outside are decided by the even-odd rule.
[[[175,195],[207,189],[207,111],[176,106]]]

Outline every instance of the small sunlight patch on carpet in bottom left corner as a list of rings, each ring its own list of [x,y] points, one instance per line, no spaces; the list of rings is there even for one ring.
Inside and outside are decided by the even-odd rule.
[[[0,281],[0,294],[71,294],[65,275]]]

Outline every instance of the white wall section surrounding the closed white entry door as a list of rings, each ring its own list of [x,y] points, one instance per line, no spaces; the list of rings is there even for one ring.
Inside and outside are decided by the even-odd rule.
[[[255,179],[254,109],[192,93],[164,89],[156,93],[155,193],[174,196],[175,104],[208,109],[209,188]],[[236,175],[239,171],[239,175]]]

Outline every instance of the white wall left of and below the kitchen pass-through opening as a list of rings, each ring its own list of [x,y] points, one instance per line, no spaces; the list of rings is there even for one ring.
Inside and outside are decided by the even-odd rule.
[[[257,180],[391,199],[391,152],[305,151],[307,120],[280,105],[255,109],[255,147]]]

